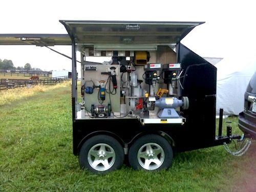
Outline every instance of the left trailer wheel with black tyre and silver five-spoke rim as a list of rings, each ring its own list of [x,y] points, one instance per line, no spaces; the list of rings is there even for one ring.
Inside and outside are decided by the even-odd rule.
[[[83,143],[79,153],[80,167],[93,173],[108,173],[118,169],[124,160],[121,144],[108,135],[97,135]]]

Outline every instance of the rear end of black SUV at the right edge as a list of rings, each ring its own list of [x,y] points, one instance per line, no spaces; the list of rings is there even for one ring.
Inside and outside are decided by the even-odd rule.
[[[247,137],[256,139],[256,72],[244,94],[244,112],[239,114],[238,126]]]

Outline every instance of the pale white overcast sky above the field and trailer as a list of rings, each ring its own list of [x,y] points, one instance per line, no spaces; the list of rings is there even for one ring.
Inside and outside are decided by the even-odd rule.
[[[182,43],[200,56],[247,56],[256,53],[254,1],[2,1],[0,33],[64,33],[62,19],[159,20],[206,22]],[[71,56],[71,46],[55,46]],[[47,48],[0,46],[0,59],[14,66],[27,62],[42,70],[71,69],[71,60]]]

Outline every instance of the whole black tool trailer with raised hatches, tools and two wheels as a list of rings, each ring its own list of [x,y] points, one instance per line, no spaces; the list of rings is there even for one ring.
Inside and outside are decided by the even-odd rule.
[[[159,170],[174,152],[240,138],[230,126],[222,136],[221,123],[216,135],[217,69],[180,42],[204,22],[60,23],[68,34],[0,34],[0,45],[72,46],[73,153],[81,168],[106,173],[127,158],[134,169]]]

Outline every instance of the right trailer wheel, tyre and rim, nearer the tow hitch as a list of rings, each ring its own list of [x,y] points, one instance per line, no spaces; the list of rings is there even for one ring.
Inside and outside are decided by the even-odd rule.
[[[163,137],[145,135],[133,143],[128,156],[134,169],[160,170],[172,165],[173,150]]]

